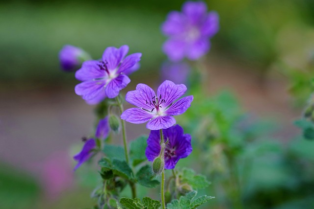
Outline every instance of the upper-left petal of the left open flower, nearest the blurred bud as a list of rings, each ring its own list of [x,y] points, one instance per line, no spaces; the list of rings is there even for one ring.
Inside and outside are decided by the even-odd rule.
[[[104,78],[107,76],[105,70],[100,70],[99,61],[90,60],[85,61],[82,64],[82,67],[76,71],[75,77],[80,81],[88,81],[97,78]]]

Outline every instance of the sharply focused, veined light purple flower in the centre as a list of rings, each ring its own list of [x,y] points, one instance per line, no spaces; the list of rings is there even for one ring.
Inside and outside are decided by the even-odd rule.
[[[169,128],[176,123],[173,116],[183,114],[191,105],[192,95],[179,99],[185,92],[184,84],[168,80],[158,87],[157,94],[149,86],[137,84],[135,91],[127,93],[126,101],[138,108],[124,111],[121,118],[136,124],[148,121],[146,127],[151,130]]]

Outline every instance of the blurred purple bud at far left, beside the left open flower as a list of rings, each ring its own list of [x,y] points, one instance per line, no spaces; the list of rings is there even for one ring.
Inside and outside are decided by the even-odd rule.
[[[65,71],[77,70],[83,61],[90,59],[87,52],[76,46],[65,45],[59,52],[60,65]]]

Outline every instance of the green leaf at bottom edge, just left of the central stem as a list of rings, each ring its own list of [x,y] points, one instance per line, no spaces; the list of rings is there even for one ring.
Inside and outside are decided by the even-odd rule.
[[[139,198],[121,198],[121,209],[159,209],[160,202],[150,197],[144,197],[142,201]]]

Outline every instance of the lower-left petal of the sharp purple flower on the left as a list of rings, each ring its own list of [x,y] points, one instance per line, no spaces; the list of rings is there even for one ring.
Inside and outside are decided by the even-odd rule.
[[[75,93],[85,100],[96,98],[102,91],[105,91],[105,80],[84,81],[75,87]]]

